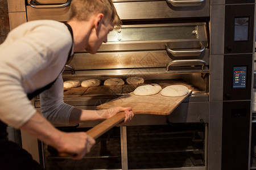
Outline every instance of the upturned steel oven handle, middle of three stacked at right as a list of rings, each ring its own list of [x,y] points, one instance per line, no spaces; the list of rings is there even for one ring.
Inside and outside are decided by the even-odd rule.
[[[167,53],[171,53],[172,56],[180,57],[180,56],[199,56],[201,53],[204,52],[205,46],[200,43],[200,49],[199,50],[174,50],[171,49],[167,43],[166,43],[166,51]]]

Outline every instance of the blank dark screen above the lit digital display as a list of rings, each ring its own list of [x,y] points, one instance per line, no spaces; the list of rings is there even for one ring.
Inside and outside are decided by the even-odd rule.
[[[234,41],[247,41],[249,29],[249,18],[234,19]]]

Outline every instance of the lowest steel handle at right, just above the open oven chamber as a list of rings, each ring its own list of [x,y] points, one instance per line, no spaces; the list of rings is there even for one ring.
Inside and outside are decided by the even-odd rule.
[[[201,65],[201,69],[204,70],[204,67],[206,65],[205,61],[201,60],[201,59],[180,59],[180,60],[174,60],[174,61],[170,61],[167,63],[166,66],[166,71],[169,71],[170,66],[172,65],[176,65],[176,64],[185,64],[185,65],[189,65],[189,66],[193,66],[193,65]]]

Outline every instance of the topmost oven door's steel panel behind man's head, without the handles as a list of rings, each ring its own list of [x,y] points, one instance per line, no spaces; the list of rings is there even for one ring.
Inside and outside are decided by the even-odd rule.
[[[192,18],[209,16],[210,0],[205,0],[199,6],[176,7],[167,1],[116,2],[114,3],[118,15],[122,20],[127,19],[164,19],[164,18]],[[29,20],[53,19],[60,22],[68,20],[69,7],[64,8],[33,8],[27,6]]]

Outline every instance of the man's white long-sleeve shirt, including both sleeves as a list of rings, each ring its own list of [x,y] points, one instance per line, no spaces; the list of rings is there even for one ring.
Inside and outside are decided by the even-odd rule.
[[[61,71],[72,36],[65,24],[36,20],[13,29],[0,45],[0,120],[19,128],[36,112],[27,94],[53,82],[41,95],[49,121],[68,124],[73,107],[63,102]]]

